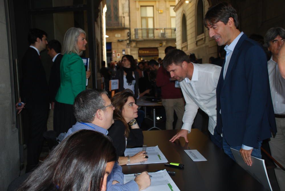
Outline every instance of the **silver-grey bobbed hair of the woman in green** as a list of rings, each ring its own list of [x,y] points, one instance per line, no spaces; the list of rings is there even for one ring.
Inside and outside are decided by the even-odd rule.
[[[71,27],[70,29],[66,31],[64,35],[64,39],[63,39],[62,54],[75,53],[78,55],[82,55],[82,51],[79,52],[78,47],[77,47],[78,36],[81,33],[84,33],[86,36],[86,32],[82,30],[81,28]]]

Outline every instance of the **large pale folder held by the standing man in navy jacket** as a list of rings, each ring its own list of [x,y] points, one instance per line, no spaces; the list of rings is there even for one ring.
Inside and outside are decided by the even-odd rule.
[[[251,156],[252,165],[248,166],[245,161],[243,161],[243,157],[241,157],[241,153],[232,149],[233,156],[235,157],[235,161],[239,166],[241,166],[245,171],[247,171],[251,176],[253,176],[260,184],[262,184],[267,190],[271,190],[271,184],[267,175],[265,163],[263,159],[258,159],[256,157]]]

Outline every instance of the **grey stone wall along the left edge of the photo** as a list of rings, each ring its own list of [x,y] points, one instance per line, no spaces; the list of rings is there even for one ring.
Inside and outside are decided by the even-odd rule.
[[[7,35],[7,3],[8,0],[0,0],[0,190],[7,190],[10,182],[20,174],[18,130],[15,114],[12,113],[15,112],[15,106],[11,94],[13,62],[9,57],[11,44]]]

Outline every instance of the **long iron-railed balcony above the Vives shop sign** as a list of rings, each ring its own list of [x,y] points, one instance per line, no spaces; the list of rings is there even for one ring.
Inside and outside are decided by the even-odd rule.
[[[135,39],[175,39],[175,28],[135,28]]]

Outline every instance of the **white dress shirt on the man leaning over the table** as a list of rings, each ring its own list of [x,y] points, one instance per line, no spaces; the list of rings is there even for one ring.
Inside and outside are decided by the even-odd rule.
[[[194,118],[200,107],[209,116],[209,132],[213,135],[217,124],[216,88],[221,73],[221,67],[213,64],[193,63],[192,79],[185,78],[180,82],[186,101],[182,129],[191,131]]]

